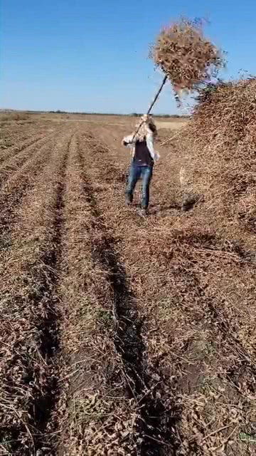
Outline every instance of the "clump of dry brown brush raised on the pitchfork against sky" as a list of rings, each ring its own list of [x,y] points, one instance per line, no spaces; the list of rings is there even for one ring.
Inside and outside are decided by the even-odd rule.
[[[225,55],[203,35],[203,21],[181,19],[165,27],[149,56],[169,78],[174,91],[193,90],[217,76]]]

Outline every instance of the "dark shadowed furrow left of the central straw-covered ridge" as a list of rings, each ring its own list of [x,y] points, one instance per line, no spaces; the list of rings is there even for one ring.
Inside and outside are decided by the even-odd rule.
[[[57,364],[55,365],[55,357],[59,350],[59,318],[62,311],[59,309],[60,298],[58,296],[58,277],[59,277],[59,262],[61,258],[62,250],[62,229],[63,229],[63,195],[65,193],[65,170],[67,167],[68,153],[70,152],[70,141],[72,137],[68,135],[66,145],[63,141],[63,150],[56,152],[55,160],[53,162],[53,172],[55,172],[55,196],[52,202],[51,211],[53,212],[52,219],[52,238],[50,244],[52,245],[51,250],[46,250],[41,257],[41,262],[48,267],[48,274],[41,280],[41,287],[46,291],[48,299],[48,309],[46,314],[41,318],[40,324],[37,326],[37,330],[41,334],[41,346],[39,351],[50,366],[50,375],[45,387],[43,395],[38,397],[36,403],[33,405],[33,418],[35,420],[36,430],[41,433],[35,442],[35,449],[41,450],[44,447],[44,441],[47,442],[48,425],[50,421],[50,415],[53,413],[55,404],[58,402],[58,379],[59,371]],[[61,144],[61,143],[60,143]],[[61,147],[61,145],[60,145]],[[51,165],[49,164],[51,168]],[[49,174],[52,172],[49,168]],[[50,294],[48,295],[48,282],[50,281]],[[35,302],[42,301],[43,296],[35,296]],[[54,423],[51,423],[54,427]],[[50,442],[50,440],[49,440]],[[44,451],[49,452],[50,447],[44,447]]]

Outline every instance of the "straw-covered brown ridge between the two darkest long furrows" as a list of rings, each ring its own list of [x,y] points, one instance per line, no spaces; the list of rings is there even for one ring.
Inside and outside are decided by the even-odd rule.
[[[106,397],[105,370],[110,369],[118,377],[118,362],[104,325],[100,323],[102,317],[105,321],[105,316],[110,315],[109,291],[102,272],[94,269],[91,261],[92,215],[83,192],[75,136],[70,142],[63,201],[63,249],[58,290],[65,303],[65,316],[61,328],[64,359],[60,363],[62,368],[65,364],[69,368],[66,375],[64,370],[63,380],[60,381],[62,392],[55,413],[60,439],[56,442],[58,449],[55,453],[76,455],[87,454],[87,451],[90,452],[88,447],[97,453],[99,445],[102,445],[101,448],[107,445],[104,440],[97,442],[94,422],[96,416],[96,422],[100,423],[101,415],[105,420],[112,420],[112,409],[109,406],[108,410],[107,405],[111,403],[111,398]],[[101,286],[104,304],[95,293]],[[114,395],[114,390],[110,390],[109,394]],[[102,400],[105,400],[104,403]],[[65,410],[64,416],[59,410]]]

